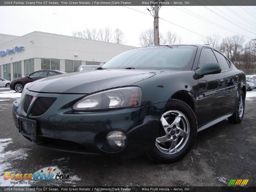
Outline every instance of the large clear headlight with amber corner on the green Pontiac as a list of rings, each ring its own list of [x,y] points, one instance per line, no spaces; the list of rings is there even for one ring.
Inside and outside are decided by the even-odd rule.
[[[141,102],[139,87],[122,87],[88,95],[73,105],[74,110],[100,110],[138,107]]]

